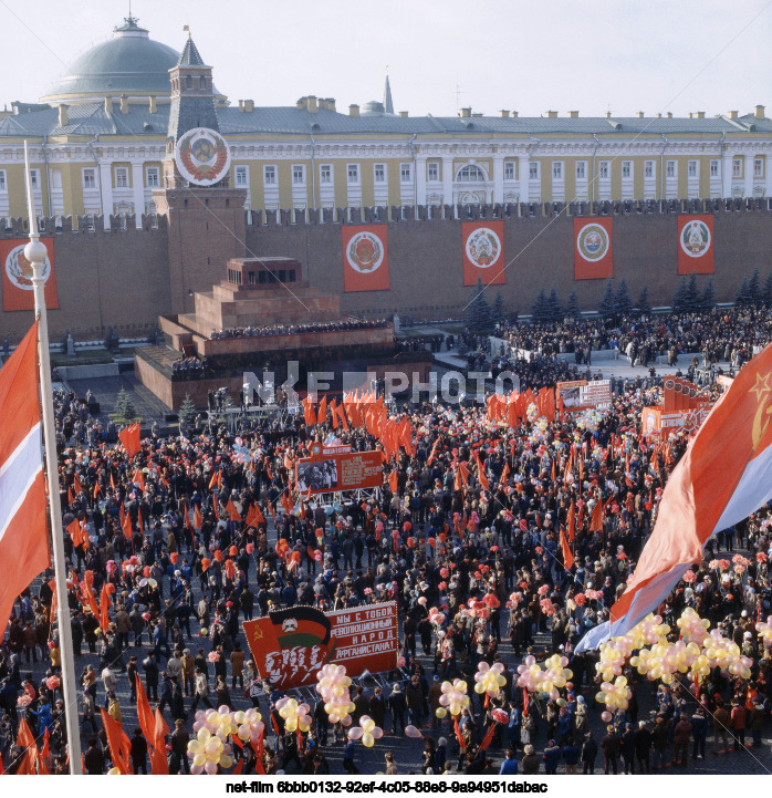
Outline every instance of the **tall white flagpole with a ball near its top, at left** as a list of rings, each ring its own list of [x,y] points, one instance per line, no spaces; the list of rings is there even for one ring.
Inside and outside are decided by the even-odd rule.
[[[38,317],[38,353],[40,357],[40,403],[43,416],[43,445],[45,447],[45,469],[48,471],[49,507],[51,509],[51,538],[53,541],[53,564],[56,583],[56,621],[59,623],[59,645],[62,656],[62,695],[67,726],[67,750],[70,773],[80,776],[81,728],[77,717],[77,692],[75,663],[73,660],[70,602],[67,601],[67,574],[64,559],[64,532],[62,531],[62,506],[59,498],[59,462],[56,457],[56,427],[53,415],[53,391],[51,387],[51,356],[49,353],[49,323],[45,313],[45,280],[43,263],[48,256],[45,245],[40,242],[38,217],[32,195],[30,176],[30,156],[24,142],[24,179],[27,183],[28,216],[30,221],[30,242],[24,247],[24,257],[32,267],[32,290],[34,293],[35,315]]]

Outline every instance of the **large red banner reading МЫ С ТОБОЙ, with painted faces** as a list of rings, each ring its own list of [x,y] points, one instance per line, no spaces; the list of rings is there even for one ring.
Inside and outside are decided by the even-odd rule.
[[[291,607],[244,621],[243,629],[260,677],[279,690],[313,684],[316,672],[328,662],[345,665],[348,676],[397,666],[394,601],[327,613]]]

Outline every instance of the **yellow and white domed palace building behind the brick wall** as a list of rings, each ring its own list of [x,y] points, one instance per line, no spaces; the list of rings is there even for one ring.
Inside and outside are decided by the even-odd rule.
[[[178,59],[128,18],[38,102],[14,102],[0,113],[0,217],[25,215],[24,138],[32,144],[41,215],[138,220],[153,213],[169,124],[169,70]],[[195,76],[188,80],[187,89],[215,95],[231,148],[230,185],[247,190],[248,209],[772,194],[772,121],[763,105],[696,110],[688,117],[643,111],[583,117],[572,110],[488,116],[473,108],[453,117],[410,116],[399,111],[398,87],[393,97],[388,79],[383,101],[347,108],[313,94],[262,107],[259,96],[228,99],[220,91],[227,86],[201,89]]]

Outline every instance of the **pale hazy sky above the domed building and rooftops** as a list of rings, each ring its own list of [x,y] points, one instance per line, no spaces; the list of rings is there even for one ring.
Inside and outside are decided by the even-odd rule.
[[[190,25],[236,104],[306,94],[382,100],[395,111],[460,107],[521,116],[772,115],[772,0],[131,0],[150,38],[177,50]],[[109,38],[129,0],[0,0],[0,107],[34,102],[66,64]]]

